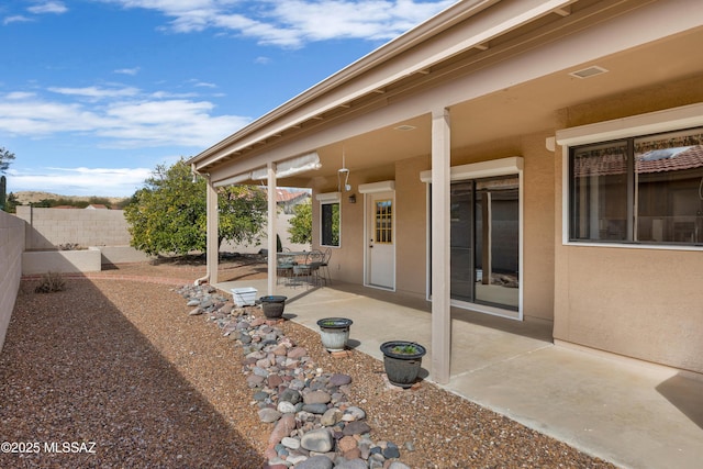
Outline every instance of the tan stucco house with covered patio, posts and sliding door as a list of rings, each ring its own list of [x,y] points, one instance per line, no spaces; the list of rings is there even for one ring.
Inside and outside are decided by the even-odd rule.
[[[193,157],[210,243],[216,187],[310,188],[335,280],[432,302],[438,382],[451,308],[703,373],[701,44],[699,0],[460,1]]]

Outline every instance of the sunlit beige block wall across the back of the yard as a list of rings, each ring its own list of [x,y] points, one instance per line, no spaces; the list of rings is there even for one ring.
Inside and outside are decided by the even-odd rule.
[[[129,246],[130,232],[122,210],[16,208],[24,220],[26,249],[55,249],[62,244],[89,246]]]

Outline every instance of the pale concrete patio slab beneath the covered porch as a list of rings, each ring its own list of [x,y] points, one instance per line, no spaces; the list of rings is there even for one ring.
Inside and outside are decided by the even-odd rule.
[[[266,280],[217,284],[255,287]],[[349,345],[379,360],[391,339],[423,344],[421,377],[432,380],[431,306],[424,299],[335,284],[278,286],[284,316],[312,330],[322,317],[352,319]],[[551,324],[453,309],[449,392],[624,468],[700,468],[703,379],[666,367],[554,345]]]

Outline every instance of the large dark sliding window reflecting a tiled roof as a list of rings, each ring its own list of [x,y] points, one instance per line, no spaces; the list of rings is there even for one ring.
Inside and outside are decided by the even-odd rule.
[[[569,237],[703,244],[703,127],[576,146]]]

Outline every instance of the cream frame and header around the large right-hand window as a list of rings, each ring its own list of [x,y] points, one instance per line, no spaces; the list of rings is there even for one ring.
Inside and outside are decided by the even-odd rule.
[[[604,144],[627,138],[638,139],[656,134],[685,131],[703,126],[703,103],[683,105],[662,111],[638,114],[634,116],[598,122],[594,124],[569,127],[557,131],[554,142],[561,146],[562,180],[561,180],[561,234],[562,245],[617,247],[639,249],[666,250],[703,250],[702,245],[667,244],[648,242],[612,242],[612,241],[579,241],[571,238],[571,149],[573,147]],[[632,175],[634,177],[634,174]],[[628,196],[629,197],[629,196]],[[629,209],[628,209],[629,210]],[[633,209],[634,210],[634,205]]]

